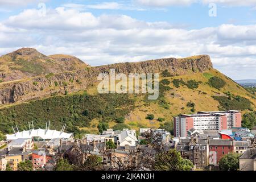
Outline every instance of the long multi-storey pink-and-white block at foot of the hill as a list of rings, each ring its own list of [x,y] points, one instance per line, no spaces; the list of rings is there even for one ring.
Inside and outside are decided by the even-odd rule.
[[[174,117],[174,137],[187,137],[187,131],[226,130],[241,127],[241,111],[199,111]]]

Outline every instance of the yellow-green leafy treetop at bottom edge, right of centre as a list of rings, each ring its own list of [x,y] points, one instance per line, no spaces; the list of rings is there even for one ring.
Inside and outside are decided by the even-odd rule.
[[[180,152],[175,149],[155,156],[155,169],[160,171],[192,171],[193,163],[188,159],[183,159]]]

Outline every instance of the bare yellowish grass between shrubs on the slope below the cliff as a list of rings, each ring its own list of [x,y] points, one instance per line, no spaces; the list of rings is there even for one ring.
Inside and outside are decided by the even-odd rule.
[[[224,88],[220,90],[210,87],[207,82],[208,79],[212,76],[217,76],[225,80],[226,85]],[[171,90],[165,93],[165,100],[170,103],[170,109],[164,109],[162,106],[158,104],[158,101],[146,102],[144,95],[132,95],[129,97],[135,100],[135,109],[126,115],[125,123],[128,124],[133,129],[138,129],[139,127],[159,127],[160,123],[157,121],[157,118],[165,118],[166,121],[172,121],[172,117],[180,114],[180,113],[191,113],[191,108],[187,107],[186,104],[189,101],[195,103],[195,110],[204,110],[204,111],[216,111],[218,110],[218,101],[213,100],[211,96],[225,96],[224,92],[230,92],[234,95],[240,95],[242,97],[248,98],[254,106],[256,105],[256,100],[251,97],[251,94],[243,89],[241,86],[237,85],[235,82],[230,80],[228,77],[218,72],[216,69],[210,69],[207,73],[195,73],[190,75],[183,76],[175,76],[168,77],[167,79],[172,81],[174,79],[182,78],[184,81],[187,80],[196,80],[201,81],[199,84],[199,88],[197,89],[189,89],[185,85],[181,85],[179,88],[175,88],[172,84],[169,85]],[[201,90],[201,93],[199,92]],[[90,86],[86,89],[87,94],[95,96],[97,94],[97,83],[93,86]],[[205,92],[207,94],[203,94]],[[68,94],[72,96],[73,94],[83,94],[84,92],[71,93]],[[63,96],[65,97],[65,96]],[[48,99],[51,99],[49,97]],[[149,103],[149,104],[148,104]],[[15,105],[14,105],[15,106]],[[9,110],[12,109],[13,106],[8,106]],[[184,109],[181,109],[184,107]],[[123,108],[125,109],[125,108]],[[255,110],[255,107],[254,107]],[[1,110],[0,110],[1,111]],[[42,113],[44,114],[44,113]],[[47,115],[47,113],[45,113]],[[147,114],[154,114],[155,119],[148,120],[146,119]],[[100,121],[98,118],[92,119],[90,122],[90,127],[83,127],[81,129],[85,129],[90,131],[90,133],[97,133],[97,123]],[[166,122],[164,121],[164,122]],[[115,125],[114,121],[109,122],[110,127]]]

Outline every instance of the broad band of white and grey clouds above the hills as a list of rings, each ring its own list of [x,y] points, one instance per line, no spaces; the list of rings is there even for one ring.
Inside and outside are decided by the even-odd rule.
[[[65,7],[48,9],[42,17],[28,9],[0,22],[0,54],[35,47],[46,55],[75,55],[91,65],[208,54],[214,67],[239,79],[248,78],[249,71],[256,77],[255,30],[254,24],[186,30],[167,22],[95,16]]]

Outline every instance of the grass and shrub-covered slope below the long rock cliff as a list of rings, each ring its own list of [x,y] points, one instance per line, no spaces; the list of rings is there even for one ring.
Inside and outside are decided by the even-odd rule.
[[[216,69],[182,76],[163,71],[160,80],[159,98],[155,101],[147,100],[145,94],[98,94],[96,83],[86,92],[10,105],[0,110],[0,131],[12,133],[14,125],[28,129],[30,121],[41,128],[51,121],[52,129],[61,129],[67,123],[67,131],[71,132],[80,128],[86,133],[98,133],[102,127],[161,127],[172,131],[172,117],[178,114],[255,110],[254,97]]]

